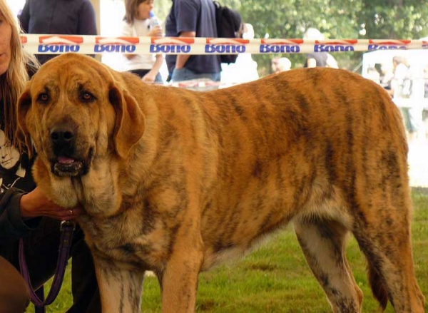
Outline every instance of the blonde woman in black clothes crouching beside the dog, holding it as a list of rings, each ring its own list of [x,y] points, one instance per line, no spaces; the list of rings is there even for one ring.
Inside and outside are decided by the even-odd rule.
[[[19,268],[19,239],[24,238],[34,289],[54,274],[61,220],[73,220],[80,207],[55,205],[34,184],[31,160],[19,144],[15,103],[24,91],[34,57],[21,48],[19,26],[0,0],[0,313],[25,312],[29,287]],[[73,306],[68,312],[101,312],[91,254],[77,227],[71,247]]]

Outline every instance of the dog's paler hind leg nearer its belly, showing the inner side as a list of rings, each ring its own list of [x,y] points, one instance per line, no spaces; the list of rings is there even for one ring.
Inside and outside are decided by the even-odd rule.
[[[347,229],[332,220],[294,220],[307,264],[327,294],[334,312],[361,312],[362,291],[345,257]]]

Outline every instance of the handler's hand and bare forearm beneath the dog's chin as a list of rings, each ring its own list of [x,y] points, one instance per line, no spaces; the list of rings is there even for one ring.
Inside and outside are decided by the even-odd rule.
[[[36,187],[31,193],[21,197],[19,202],[22,217],[46,216],[56,220],[74,220],[83,212],[81,207],[66,209],[56,205]]]

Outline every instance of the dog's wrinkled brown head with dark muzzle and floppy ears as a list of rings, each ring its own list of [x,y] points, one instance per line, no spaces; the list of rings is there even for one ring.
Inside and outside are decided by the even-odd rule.
[[[29,151],[56,176],[88,173],[94,158],[126,158],[144,132],[144,116],[118,73],[66,53],[41,66],[18,101]]]

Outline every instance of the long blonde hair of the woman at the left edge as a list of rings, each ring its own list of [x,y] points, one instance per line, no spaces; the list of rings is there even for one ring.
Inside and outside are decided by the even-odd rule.
[[[31,65],[37,68],[39,63],[34,56],[24,51],[21,47],[21,27],[8,4],[6,4],[6,0],[0,0],[0,14],[4,16],[6,23],[11,26],[11,61],[6,73],[0,76],[4,111],[4,120],[0,120],[0,123],[4,123],[6,142],[18,145],[16,103],[24,91],[26,82],[29,80],[27,66]]]

